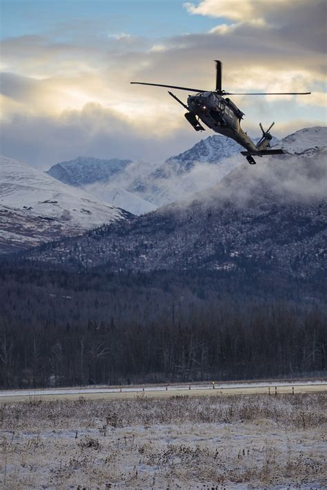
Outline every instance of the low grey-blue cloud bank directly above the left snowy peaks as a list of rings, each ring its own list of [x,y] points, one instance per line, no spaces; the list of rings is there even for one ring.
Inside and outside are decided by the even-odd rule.
[[[2,124],[1,153],[43,170],[78,155],[162,161],[170,152],[195,144],[194,133],[181,126],[175,132],[149,138],[143,126],[131,124],[119,112],[88,103],[82,110],[57,117],[12,116]]]

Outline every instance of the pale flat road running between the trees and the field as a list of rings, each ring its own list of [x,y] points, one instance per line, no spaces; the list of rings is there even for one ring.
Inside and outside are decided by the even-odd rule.
[[[18,402],[45,402],[50,400],[121,400],[138,396],[169,398],[170,396],[228,396],[257,394],[295,394],[326,392],[327,382],[253,382],[211,385],[144,385],[134,387],[63,388],[0,391],[0,405]]]

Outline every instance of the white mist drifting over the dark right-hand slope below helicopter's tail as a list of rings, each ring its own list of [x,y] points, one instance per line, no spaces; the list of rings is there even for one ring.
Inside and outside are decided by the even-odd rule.
[[[206,186],[185,202],[175,203],[177,207],[188,206],[190,201],[202,201],[207,204],[228,201],[235,207],[260,209],[265,203],[301,203],[324,200],[326,198],[327,172],[326,148],[311,154],[295,156],[266,156],[257,159],[257,165],[244,163],[244,157],[231,156],[226,162],[234,170],[212,187]],[[264,208],[261,207],[260,212]],[[270,209],[271,210],[271,209]]]

